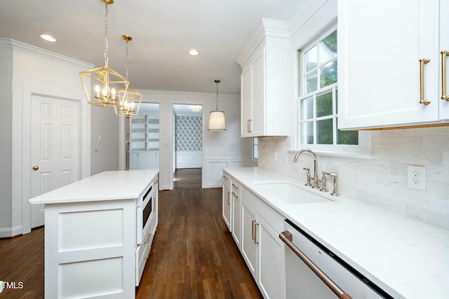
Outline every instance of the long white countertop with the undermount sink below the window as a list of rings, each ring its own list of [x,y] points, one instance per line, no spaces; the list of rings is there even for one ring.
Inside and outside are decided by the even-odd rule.
[[[340,196],[287,204],[256,183],[292,182],[257,167],[223,169],[394,298],[449,298],[449,231]]]

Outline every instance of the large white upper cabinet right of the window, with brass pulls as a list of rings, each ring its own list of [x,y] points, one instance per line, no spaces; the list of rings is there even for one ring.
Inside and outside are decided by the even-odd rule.
[[[338,1],[339,129],[447,122],[448,15],[447,0]]]

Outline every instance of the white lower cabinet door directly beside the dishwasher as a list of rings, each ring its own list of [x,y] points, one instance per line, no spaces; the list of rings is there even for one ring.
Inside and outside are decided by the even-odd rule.
[[[286,271],[284,245],[279,234],[262,218],[257,219],[259,244],[259,263],[257,284],[264,298],[286,298]]]

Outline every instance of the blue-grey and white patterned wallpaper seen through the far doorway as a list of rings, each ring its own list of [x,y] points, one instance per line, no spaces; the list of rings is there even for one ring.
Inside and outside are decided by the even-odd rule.
[[[202,123],[201,116],[176,116],[176,151],[202,151]]]

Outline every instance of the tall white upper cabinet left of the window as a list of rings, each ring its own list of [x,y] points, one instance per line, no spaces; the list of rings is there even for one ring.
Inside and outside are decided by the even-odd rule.
[[[239,59],[241,137],[288,135],[288,26],[262,20]]]

